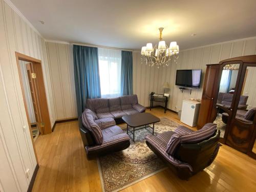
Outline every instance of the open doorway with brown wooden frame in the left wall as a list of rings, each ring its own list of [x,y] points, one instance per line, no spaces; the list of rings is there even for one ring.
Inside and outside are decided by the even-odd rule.
[[[35,141],[39,134],[52,132],[41,61],[17,52],[16,60],[31,138]]]

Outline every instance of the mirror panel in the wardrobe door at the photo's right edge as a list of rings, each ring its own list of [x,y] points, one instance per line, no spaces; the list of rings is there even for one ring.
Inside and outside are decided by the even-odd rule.
[[[248,123],[253,122],[256,112],[256,86],[253,82],[256,82],[256,67],[247,67],[236,118]]]

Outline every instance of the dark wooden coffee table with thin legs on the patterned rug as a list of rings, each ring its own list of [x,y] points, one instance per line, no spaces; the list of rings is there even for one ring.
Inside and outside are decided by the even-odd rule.
[[[160,121],[158,117],[152,115],[151,113],[138,113],[134,115],[126,115],[123,116],[122,119],[127,124],[127,134],[128,131],[133,134],[133,141],[135,131],[137,130],[146,129],[148,131],[147,128],[150,127],[153,130],[152,134],[154,135],[155,123]],[[153,126],[151,126],[150,124],[153,124]],[[132,130],[130,130],[129,127],[131,127]]]

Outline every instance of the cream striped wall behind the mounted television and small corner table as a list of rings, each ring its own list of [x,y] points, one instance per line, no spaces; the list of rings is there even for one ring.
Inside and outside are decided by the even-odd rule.
[[[160,69],[150,68],[145,66],[144,63],[141,66],[140,53],[134,52],[133,54],[134,93],[138,95],[140,103],[144,106],[149,106],[150,101],[147,95],[150,94],[151,91],[163,93],[162,85],[165,81],[168,81],[171,87],[169,91],[170,99],[168,101],[168,108],[179,111],[183,99],[201,99],[207,64],[218,63],[227,58],[256,54],[256,37],[184,50],[180,52],[177,64],[172,62],[169,67]],[[175,86],[176,70],[178,69],[202,69],[201,89],[193,89],[191,95],[189,95],[189,91],[182,93],[179,87]],[[256,93],[255,86],[251,87],[251,89],[254,89],[254,92],[253,90],[250,91],[251,93]],[[248,99],[248,102],[252,102],[252,97]],[[256,106],[256,103],[251,103],[251,105]]]

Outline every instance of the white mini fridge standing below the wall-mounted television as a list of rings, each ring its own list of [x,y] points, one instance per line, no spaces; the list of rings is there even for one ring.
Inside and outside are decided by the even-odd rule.
[[[197,126],[200,104],[194,100],[183,100],[180,121],[189,126]]]

